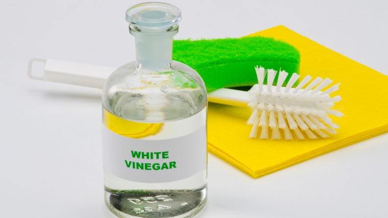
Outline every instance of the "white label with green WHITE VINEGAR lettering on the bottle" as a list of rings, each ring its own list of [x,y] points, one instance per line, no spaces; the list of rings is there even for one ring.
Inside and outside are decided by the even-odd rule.
[[[119,135],[102,124],[102,163],[120,178],[145,183],[188,178],[207,166],[206,125],[177,138],[144,140]]]

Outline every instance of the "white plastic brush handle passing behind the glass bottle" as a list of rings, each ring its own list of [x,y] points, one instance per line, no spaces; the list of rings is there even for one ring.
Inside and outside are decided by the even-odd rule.
[[[32,65],[34,62],[45,63],[43,76],[32,75]],[[88,65],[45,58],[31,58],[28,62],[27,75],[34,80],[102,89],[105,80],[115,70],[115,67]],[[244,108],[247,108],[247,104],[253,97],[254,95],[247,91],[229,88],[220,88],[208,93],[209,102]]]

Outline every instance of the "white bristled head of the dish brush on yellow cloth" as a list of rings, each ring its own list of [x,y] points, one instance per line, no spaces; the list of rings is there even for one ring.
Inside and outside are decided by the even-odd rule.
[[[252,125],[249,138],[268,139],[271,133],[270,138],[273,140],[303,140],[327,138],[327,133],[337,133],[334,129],[338,129],[339,124],[333,122],[329,115],[343,116],[338,109],[333,109],[341,97],[338,95],[331,98],[329,94],[338,90],[339,84],[327,88],[333,82],[329,78],[323,80],[317,77],[312,80],[307,75],[296,88],[292,88],[300,78],[297,73],[293,73],[289,82],[285,83],[290,75],[284,70],[279,70],[279,75],[276,76],[276,70],[257,65],[255,71],[258,85],[249,91],[252,97],[249,97],[251,100],[248,107],[253,112],[246,121],[247,125]],[[273,85],[276,77],[277,82]],[[265,78],[267,86],[264,85]],[[283,85],[286,87],[282,87]],[[325,88],[325,91],[321,91]],[[271,132],[268,128],[271,128]],[[284,137],[280,129],[283,130]],[[294,136],[291,130],[294,131]]]

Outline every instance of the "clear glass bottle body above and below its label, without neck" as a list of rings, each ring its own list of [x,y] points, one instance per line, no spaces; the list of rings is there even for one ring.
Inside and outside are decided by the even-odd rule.
[[[144,70],[136,63],[123,65],[106,81],[102,101],[105,126],[127,137],[175,138],[207,122],[203,81],[192,68],[179,62],[159,71]],[[126,128],[132,125],[130,122],[139,126]],[[148,128],[153,130],[148,133],[133,131],[141,129],[139,123],[155,128]],[[158,125],[162,125],[160,129]],[[131,131],[125,132],[127,129]],[[120,218],[189,218],[206,203],[207,168],[189,178],[164,183],[129,181],[104,168],[104,186],[105,203]]]

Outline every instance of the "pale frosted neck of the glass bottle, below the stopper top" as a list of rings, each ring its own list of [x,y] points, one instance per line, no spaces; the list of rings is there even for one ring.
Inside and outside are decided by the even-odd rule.
[[[178,26],[165,30],[141,30],[129,27],[135,37],[136,60],[148,70],[166,67],[172,61],[172,40]]]

